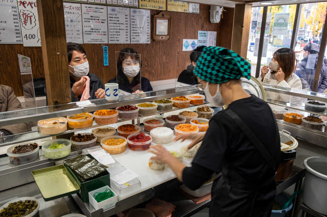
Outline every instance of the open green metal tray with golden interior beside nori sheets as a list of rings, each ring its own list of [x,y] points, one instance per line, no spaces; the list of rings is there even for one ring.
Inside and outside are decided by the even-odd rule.
[[[63,165],[33,170],[33,178],[44,201],[54,200],[79,192],[79,185]]]

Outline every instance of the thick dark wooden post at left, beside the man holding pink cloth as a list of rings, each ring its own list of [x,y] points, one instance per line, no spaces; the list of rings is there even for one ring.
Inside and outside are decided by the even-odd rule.
[[[71,102],[62,0],[37,0],[49,105]]]

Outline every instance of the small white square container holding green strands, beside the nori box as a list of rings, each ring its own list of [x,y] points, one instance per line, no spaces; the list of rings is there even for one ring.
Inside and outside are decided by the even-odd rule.
[[[106,189],[110,189],[110,191],[112,191],[112,193],[114,194],[113,197],[110,197],[106,200],[103,200],[101,202],[96,202],[96,200],[94,199],[93,195],[97,192],[104,192],[106,191]],[[112,208],[113,206],[115,206],[116,202],[118,201],[118,195],[116,194],[116,192],[114,192],[108,185],[103,186],[102,188],[96,189],[94,191],[89,192],[89,202],[90,204],[94,207],[94,209],[98,210],[98,209],[109,209]]]

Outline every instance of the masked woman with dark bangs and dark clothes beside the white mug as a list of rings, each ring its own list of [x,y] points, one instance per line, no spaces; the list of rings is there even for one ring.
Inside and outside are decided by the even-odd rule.
[[[139,93],[152,91],[149,79],[141,77],[140,55],[133,48],[120,51],[117,60],[117,76],[108,83],[118,83],[118,88],[129,92]]]

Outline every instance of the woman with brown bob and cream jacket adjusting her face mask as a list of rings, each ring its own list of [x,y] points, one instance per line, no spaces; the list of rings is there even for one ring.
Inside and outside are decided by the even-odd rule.
[[[289,48],[281,48],[274,53],[269,66],[261,69],[261,76],[258,80],[269,85],[302,89],[299,76],[293,73],[294,68],[294,51]],[[267,98],[283,102],[290,101],[290,96],[270,91],[267,91]]]

